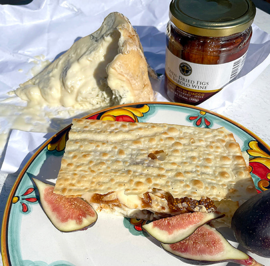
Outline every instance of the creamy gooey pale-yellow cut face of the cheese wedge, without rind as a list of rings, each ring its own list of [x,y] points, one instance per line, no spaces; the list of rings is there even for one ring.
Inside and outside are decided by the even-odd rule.
[[[86,36],[76,42],[55,63],[16,90],[23,100],[34,104],[73,106],[87,103],[90,108],[110,105],[106,66],[118,54],[117,30],[102,35],[98,42]],[[89,46],[89,44],[91,44]]]

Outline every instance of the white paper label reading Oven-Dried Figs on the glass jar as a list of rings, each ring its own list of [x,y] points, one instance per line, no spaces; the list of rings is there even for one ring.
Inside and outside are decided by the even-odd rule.
[[[243,67],[246,53],[234,61],[207,65],[190,63],[166,47],[165,73],[173,84],[194,92],[217,92],[231,82]]]

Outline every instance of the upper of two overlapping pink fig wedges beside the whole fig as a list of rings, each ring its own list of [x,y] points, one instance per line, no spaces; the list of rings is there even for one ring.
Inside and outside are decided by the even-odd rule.
[[[224,215],[216,212],[189,212],[144,224],[143,229],[165,244],[173,244],[190,236],[199,226]]]

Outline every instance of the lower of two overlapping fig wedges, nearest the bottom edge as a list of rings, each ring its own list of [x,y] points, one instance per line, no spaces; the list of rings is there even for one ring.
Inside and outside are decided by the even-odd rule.
[[[213,227],[200,226],[186,239],[174,244],[161,244],[168,252],[184,262],[209,265],[217,262],[235,262],[246,266],[263,266],[246,253],[236,249]]]

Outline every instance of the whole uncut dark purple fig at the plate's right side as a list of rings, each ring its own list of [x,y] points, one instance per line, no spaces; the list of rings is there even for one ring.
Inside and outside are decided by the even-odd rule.
[[[270,189],[243,203],[232,218],[238,243],[261,257],[270,257]]]

